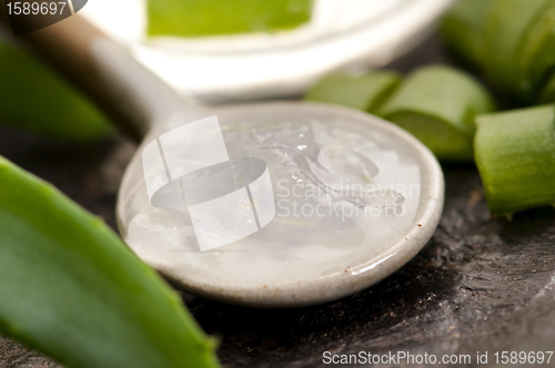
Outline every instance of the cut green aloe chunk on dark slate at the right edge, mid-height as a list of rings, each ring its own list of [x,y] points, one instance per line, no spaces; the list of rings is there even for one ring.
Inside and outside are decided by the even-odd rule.
[[[555,204],[555,106],[476,117],[476,165],[493,216]]]

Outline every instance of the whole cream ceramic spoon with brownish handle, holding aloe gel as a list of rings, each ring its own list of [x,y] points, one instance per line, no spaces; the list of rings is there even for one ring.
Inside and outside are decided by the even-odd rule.
[[[255,307],[334,300],[402,267],[437,226],[444,196],[437,161],[412,135],[376,116],[306,102],[190,105],[79,16],[24,38],[142,141],[119,192],[118,225],[141,259],[185,292]],[[218,131],[185,134],[206,121],[218,122]],[[178,157],[183,166],[199,155],[191,146],[213,159],[199,140],[222,149],[230,163],[263,161],[268,178],[238,186],[212,212],[199,212],[186,194],[179,197],[181,212],[154,206],[147,147],[160,155],[154,168],[169,183],[174,177],[167,141],[172,150],[190,151]],[[186,193],[181,185],[176,194]],[[263,200],[272,201],[258,201],[261,187]],[[233,200],[240,195],[245,201]],[[270,214],[263,222],[262,213]],[[223,242],[222,232],[234,237]],[[201,252],[200,244],[212,245]]]

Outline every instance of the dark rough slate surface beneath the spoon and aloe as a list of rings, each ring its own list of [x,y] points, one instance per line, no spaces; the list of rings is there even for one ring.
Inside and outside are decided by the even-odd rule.
[[[444,60],[432,40],[393,67],[407,71]],[[112,227],[117,188],[133,151],[122,137],[71,146],[0,127],[0,154]],[[324,351],[471,354],[475,364],[477,350],[490,350],[490,362],[496,350],[555,350],[555,209],[527,211],[511,223],[492,219],[476,168],[448,165],[444,172],[445,211],[430,244],[374,287],[280,310],[184,295],[202,327],[221,337],[224,367],[319,367]],[[0,337],[0,367],[58,365]]]

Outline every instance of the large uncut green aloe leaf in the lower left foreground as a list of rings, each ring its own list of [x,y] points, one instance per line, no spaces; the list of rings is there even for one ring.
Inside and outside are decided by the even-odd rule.
[[[219,367],[178,295],[100,219],[0,157],[0,331],[67,367]]]

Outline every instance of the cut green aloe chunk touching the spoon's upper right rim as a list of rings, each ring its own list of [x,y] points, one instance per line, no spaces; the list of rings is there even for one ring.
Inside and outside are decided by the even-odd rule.
[[[494,109],[474,78],[434,65],[408,75],[379,114],[416,136],[437,159],[471,162],[474,116]]]

